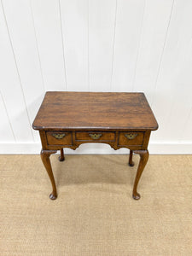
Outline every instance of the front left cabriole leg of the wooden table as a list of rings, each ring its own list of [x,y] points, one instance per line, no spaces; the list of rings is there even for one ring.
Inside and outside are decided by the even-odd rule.
[[[55,178],[54,178],[52,168],[50,165],[50,160],[49,160],[50,154],[55,154],[55,153],[56,153],[56,150],[44,150],[44,149],[41,150],[41,159],[42,159],[42,161],[44,163],[44,167],[49,175],[49,179],[50,179],[50,182],[51,182],[52,188],[53,188],[52,193],[49,195],[49,198],[51,200],[55,200],[57,198]]]

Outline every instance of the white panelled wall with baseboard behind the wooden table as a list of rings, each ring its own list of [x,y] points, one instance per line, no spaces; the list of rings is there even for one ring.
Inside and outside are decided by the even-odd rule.
[[[1,0],[0,154],[39,153],[46,90],[143,91],[160,126],[150,153],[192,154],[191,12],[191,0]]]

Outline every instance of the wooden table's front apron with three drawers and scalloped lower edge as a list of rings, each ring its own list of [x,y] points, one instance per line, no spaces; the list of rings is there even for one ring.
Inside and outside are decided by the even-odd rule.
[[[151,131],[39,131],[42,148],[44,150],[60,150],[61,148],[76,149],[84,143],[105,143],[115,150],[119,148],[145,150],[148,148],[150,132]]]

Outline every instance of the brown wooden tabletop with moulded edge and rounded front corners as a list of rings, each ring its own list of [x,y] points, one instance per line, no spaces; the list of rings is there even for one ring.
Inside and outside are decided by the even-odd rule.
[[[143,93],[48,91],[32,127],[154,131],[158,124]]]

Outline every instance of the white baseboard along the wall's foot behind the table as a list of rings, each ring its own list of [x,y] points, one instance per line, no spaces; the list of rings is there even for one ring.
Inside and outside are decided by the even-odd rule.
[[[40,143],[0,143],[0,154],[39,154]],[[192,141],[189,142],[151,142],[150,154],[192,154]],[[114,150],[108,144],[86,143],[76,150],[65,148],[66,154],[128,154],[126,148]]]

